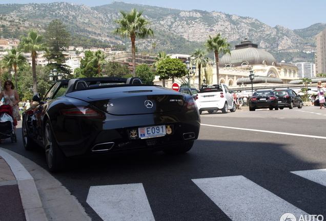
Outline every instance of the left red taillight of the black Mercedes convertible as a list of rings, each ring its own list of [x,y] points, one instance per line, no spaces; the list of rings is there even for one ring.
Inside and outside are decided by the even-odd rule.
[[[100,118],[102,114],[87,106],[75,106],[60,109],[60,114],[64,117],[71,118]]]

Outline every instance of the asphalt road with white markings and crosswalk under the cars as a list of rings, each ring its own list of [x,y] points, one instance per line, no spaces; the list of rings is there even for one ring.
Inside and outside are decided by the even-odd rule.
[[[186,154],[84,159],[53,176],[93,220],[326,220],[325,120],[314,106],[203,112]],[[2,147],[46,168],[17,137]]]

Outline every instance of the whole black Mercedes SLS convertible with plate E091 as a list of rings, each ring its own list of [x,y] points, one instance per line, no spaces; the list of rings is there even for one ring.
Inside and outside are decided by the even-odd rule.
[[[198,138],[194,98],[139,78],[80,78],[56,82],[23,113],[23,144],[45,149],[50,171],[72,157],[127,151],[189,151]]]

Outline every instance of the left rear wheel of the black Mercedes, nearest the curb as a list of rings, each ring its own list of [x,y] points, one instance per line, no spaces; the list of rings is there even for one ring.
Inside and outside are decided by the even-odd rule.
[[[49,170],[51,172],[63,171],[67,168],[68,160],[54,138],[49,120],[45,124],[44,135],[45,156]]]

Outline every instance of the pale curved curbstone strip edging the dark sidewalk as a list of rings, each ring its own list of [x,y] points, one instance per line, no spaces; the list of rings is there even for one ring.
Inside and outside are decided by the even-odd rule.
[[[6,149],[0,148],[0,156],[5,159],[17,180],[26,220],[48,221],[32,175]]]

